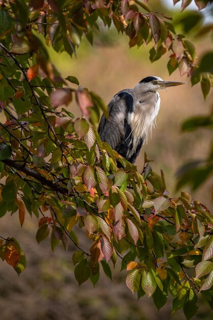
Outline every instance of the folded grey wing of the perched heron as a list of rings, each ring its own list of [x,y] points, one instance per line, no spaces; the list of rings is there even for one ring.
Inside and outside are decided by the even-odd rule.
[[[107,142],[114,150],[125,137],[127,112],[133,110],[134,98],[131,92],[131,89],[126,89],[115,95],[108,105],[109,118],[102,115],[100,119],[98,126],[100,139]]]

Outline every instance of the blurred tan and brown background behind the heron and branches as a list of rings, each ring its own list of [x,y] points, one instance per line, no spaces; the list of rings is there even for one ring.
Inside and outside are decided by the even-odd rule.
[[[167,6],[167,9],[164,6]],[[173,1],[149,1],[153,11],[180,17],[180,9],[172,7]],[[195,5],[189,7],[196,10]],[[206,10],[209,10],[207,8]],[[205,13],[209,21],[208,11]],[[100,26],[101,27],[101,26]],[[181,32],[181,27],[180,32]],[[188,35],[197,48],[198,56],[211,49],[210,37],[197,40],[192,34]],[[83,40],[77,50],[77,58],[67,54],[58,55],[50,50],[52,62],[61,74],[78,78],[80,85],[87,87],[101,96],[106,104],[123,88],[132,88],[146,76],[159,76],[164,80],[185,81],[186,85],[162,90],[161,108],[157,117],[157,128],[152,131],[152,138],[142,148],[136,165],[138,171],[143,168],[144,152],[147,153],[153,171],[164,171],[167,189],[172,196],[175,191],[175,172],[186,161],[193,158],[203,158],[207,155],[210,137],[209,132],[197,130],[192,133],[182,133],[180,130],[183,120],[190,116],[208,113],[212,108],[212,93],[204,101],[200,85],[191,87],[187,76],[180,78],[178,70],[170,77],[167,71],[169,53],[160,60],[150,63],[149,50],[152,44],[141,48],[128,48],[128,39],[118,35],[113,28],[108,31],[101,27],[101,32],[94,38],[94,45]],[[212,62],[213,63],[213,62]],[[81,112],[75,102],[69,110],[76,117]],[[210,186],[206,182],[196,192],[189,191],[194,198],[212,208]],[[1,320],[161,320],[182,319],[181,311],[171,314],[172,302],[158,312],[152,299],[146,297],[137,302],[137,294],[132,294],[125,285],[126,271],[119,272],[120,263],[113,272],[113,282],[101,275],[96,287],[88,281],[78,287],[74,279],[71,261],[74,248],[70,245],[65,253],[62,246],[52,253],[49,238],[38,246],[35,235],[37,219],[26,216],[23,227],[20,228],[18,214],[1,218],[0,234],[4,237],[15,237],[19,241],[27,258],[27,266],[18,278],[11,266],[0,262],[0,310]],[[87,239],[79,234],[80,243]],[[200,308],[193,320],[212,319],[212,311],[202,300]]]

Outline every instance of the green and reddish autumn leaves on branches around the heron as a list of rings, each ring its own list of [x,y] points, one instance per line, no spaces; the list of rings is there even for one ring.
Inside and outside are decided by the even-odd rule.
[[[182,9],[188,3],[182,1]],[[207,2],[196,4],[202,9]],[[108,27],[113,22],[129,37],[130,47],[153,42],[151,61],[171,51],[170,73],[178,67],[193,79],[198,72],[204,97],[212,81],[205,70],[209,57],[196,68],[194,44],[176,34],[172,18],[151,12],[147,1],[1,1],[0,20],[0,94],[6,117],[0,123],[1,217],[18,211],[22,226],[26,212],[35,215],[36,240],[49,237],[52,250],[60,242],[67,250],[72,242],[79,285],[90,280],[95,286],[100,267],[111,279],[119,257],[127,287],[139,299],[152,296],[157,309],[170,293],[173,310],[182,308],[190,319],[198,308],[198,292],[213,308],[210,211],[188,193],[169,197],[163,171],[153,172],[146,154],[140,174],[100,140],[92,125],[100,109],[108,115],[107,107],[76,77],[63,79],[46,45],[72,57],[83,35],[93,43],[100,20]],[[73,98],[82,119],[63,107]],[[188,121],[184,128],[195,123]],[[85,249],[77,227],[88,236]],[[19,275],[26,265],[20,245],[14,238],[1,239],[0,256]]]

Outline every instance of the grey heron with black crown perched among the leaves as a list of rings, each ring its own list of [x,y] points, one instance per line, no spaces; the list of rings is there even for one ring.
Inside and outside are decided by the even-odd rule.
[[[142,79],[133,89],[118,92],[108,104],[109,117],[102,115],[98,133],[103,142],[135,164],[147,135],[155,127],[161,104],[158,91],[185,82],[163,81],[156,76]]]

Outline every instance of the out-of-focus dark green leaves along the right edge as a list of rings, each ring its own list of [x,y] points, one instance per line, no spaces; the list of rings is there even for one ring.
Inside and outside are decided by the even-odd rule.
[[[183,4],[184,2],[182,2]],[[186,1],[185,4],[189,5],[191,1]],[[197,2],[198,5],[198,2]],[[198,6],[199,7],[199,6]],[[183,8],[183,6],[182,6]],[[199,9],[202,9],[199,7]],[[210,11],[213,17],[213,11]],[[188,11],[183,15],[179,14],[175,21],[175,26],[181,26],[184,33],[193,35],[196,40],[203,38],[203,36],[210,35],[213,42],[213,24],[204,24],[204,16],[202,12]],[[211,43],[213,44],[213,43]],[[213,74],[213,45],[212,50],[204,53],[202,57],[198,59],[198,63],[195,66],[195,70],[191,76],[191,83],[195,85],[200,82],[204,99],[207,97],[212,86],[212,74]],[[190,49],[190,48],[189,48]],[[211,106],[212,108],[212,106]],[[212,130],[212,111],[206,116],[196,116],[191,119],[187,119],[182,124],[183,131],[192,131],[199,128]],[[180,189],[184,185],[190,185],[193,190],[199,188],[207,179],[212,178],[213,172],[213,141],[210,141],[209,154],[206,159],[197,159],[184,164],[177,172],[177,189]],[[213,189],[212,189],[213,199]]]

